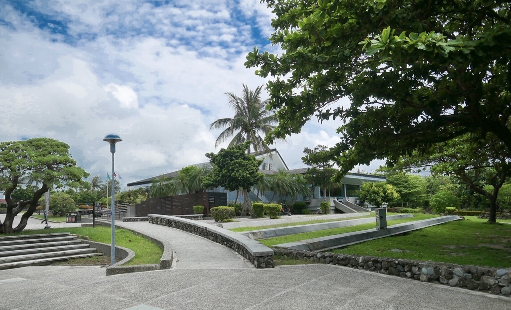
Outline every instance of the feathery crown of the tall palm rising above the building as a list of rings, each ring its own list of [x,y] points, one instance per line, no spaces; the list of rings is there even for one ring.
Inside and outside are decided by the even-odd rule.
[[[242,97],[238,97],[233,92],[225,93],[235,113],[233,118],[220,118],[210,125],[210,129],[225,128],[216,139],[215,147],[233,137],[229,146],[250,140],[252,141],[250,145],[253,145],[255,152],[269,150],[261,133],[266,135],[272,131],[278,120],[276,114],[266,109],[269,99],[261,101],[262,88],[263,86],[258,86],[255,90],[251,90],[243,84]],[[250,145],[247,153],[250,153]]]

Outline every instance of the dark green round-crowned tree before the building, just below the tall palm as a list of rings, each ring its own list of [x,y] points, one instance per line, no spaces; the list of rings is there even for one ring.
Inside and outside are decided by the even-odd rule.
[[[206,153],[206,157],[210,158],[213,164],[213,172],[205,178],[204,186],[222,186],[231,191],[241,188],[243,192],[241,215],[244,216],[248,209],[253,218],[254,213],[248,192],[263,178],[263,174],[259,171],[263,160],[246,153],[249,144],[250,141],[246,141],[240,145],[221,149],[218,154]]]

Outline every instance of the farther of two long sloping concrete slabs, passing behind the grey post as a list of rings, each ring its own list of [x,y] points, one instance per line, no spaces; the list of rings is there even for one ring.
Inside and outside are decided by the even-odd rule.
[[[390,221],[390,220],[398,220],[398,219],[412,218],[412,217],[413,217],[413,214],[403,213],[403,214],[396,214],[393,216],[388,216],[387,220]],[[241,234],[249,237],[250,239],[259,240],[259,239],[267,239],[267,238],[273,238],[273,237],[278,237],[278,236],[285,236],[285,235],[295,234],[295,233],[311,232],[311,231],[332,229],[332,228],[339,228],[339,227],[349,227],[349,226],[355,226],[355,225],[367,224],[367,223],[375,223],[375,226],[376,226],[376,219],[374,217],[371,217],[371,218],[365,218],[365,219],[343,220],[343,221],[328,222],[328,223],[268,228],[268,229],[245,231],[245,232],[242,232]]]

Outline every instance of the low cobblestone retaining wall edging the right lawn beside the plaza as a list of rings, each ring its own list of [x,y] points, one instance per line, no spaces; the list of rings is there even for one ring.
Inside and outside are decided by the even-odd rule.
[[[275,255],[307,260],[319,264],[331,264],[374,271],[382,274],[410,278],[422,282],[434,282],[473,291],[497,295],[511,294],[511,270],[457,264],[435,263],[409,259],[315,253],[288,249],[273,249]]]

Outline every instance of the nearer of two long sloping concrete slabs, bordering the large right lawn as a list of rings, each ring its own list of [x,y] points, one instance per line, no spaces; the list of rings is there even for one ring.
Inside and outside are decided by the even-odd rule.
[[[309,240],[278,244],[275,245],[275,247],[303,251],[324,251],[457,220],[461,220],[461,218],[458,216],[438,217],[428,220],[392,225],[388,226],[386,229],[367,229]]]

